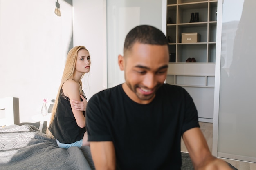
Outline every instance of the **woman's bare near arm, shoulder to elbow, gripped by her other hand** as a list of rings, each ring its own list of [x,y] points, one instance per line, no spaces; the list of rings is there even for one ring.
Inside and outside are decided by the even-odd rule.
[[[72,79],[67,80],[62,86],[63,93],[72,100],[80,101],[79,84]],[[82,111],[72,108],[76,123],[80,128],[85,127],[85,117]]]

